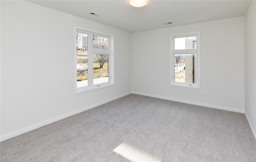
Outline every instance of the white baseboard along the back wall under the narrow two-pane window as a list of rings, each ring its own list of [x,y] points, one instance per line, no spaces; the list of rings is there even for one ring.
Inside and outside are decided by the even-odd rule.
[[[137,95],[155,97],[155,98],[158,98],[158,99],[166,99],[166,100],[170,100],[170,101],[177,101],[177,102],[180,102],[180,103],[188,103],[188,104],[192,104],[192,105],[210,107],[210,108],[214,108],[214,109],[221,109],[221,110],[233,111],[233,112],[237,112],[237,113],[244,113],[244,110],[234,109],[234,108],[231,108],[231,107],[224,107],[224,106],[218,106],[218,105],[211,105],[211,104],[206,104],[206,103],[198,103],[198,102],[193,102],[193,101],[187,101],[187,100],[182,100],[182,99],[175,99],[175,98],[164,97],[164,96],[158,96],[158,95],[151,95],[151,94],[140,93],[140,92],[134,92],[134,91],[132,91],[132,93],[133,93],[133,94],[137,94]]]

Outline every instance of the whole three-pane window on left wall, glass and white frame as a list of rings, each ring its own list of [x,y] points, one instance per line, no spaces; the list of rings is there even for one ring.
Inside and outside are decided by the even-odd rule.
[[[114,85],[114,36],[75,28],[75,93]]]

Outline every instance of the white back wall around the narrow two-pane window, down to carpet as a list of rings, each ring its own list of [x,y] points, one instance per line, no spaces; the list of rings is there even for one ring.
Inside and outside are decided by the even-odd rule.
[[[170,34],[195,31],[200,89],[170,86]],[[132,92],[244,113],[244,17],[132,33]]]

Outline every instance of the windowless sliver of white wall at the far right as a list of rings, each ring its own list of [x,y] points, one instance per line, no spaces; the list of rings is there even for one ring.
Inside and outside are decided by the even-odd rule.
[[[245,15],[245,113],[256,137],[256,1]]]

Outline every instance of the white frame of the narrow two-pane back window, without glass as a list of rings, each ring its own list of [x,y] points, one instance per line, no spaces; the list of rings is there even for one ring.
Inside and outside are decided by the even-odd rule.
[[[174,49],[174,39],[196,36],[196,49]],[[175,54],[196,54],[196,82],[197,83],[178,83],[175,82]],[[188,87],[200,89],[200,32],[190,32],[182,34],[172,34],[170,35],[170,85],[178,87]]]

